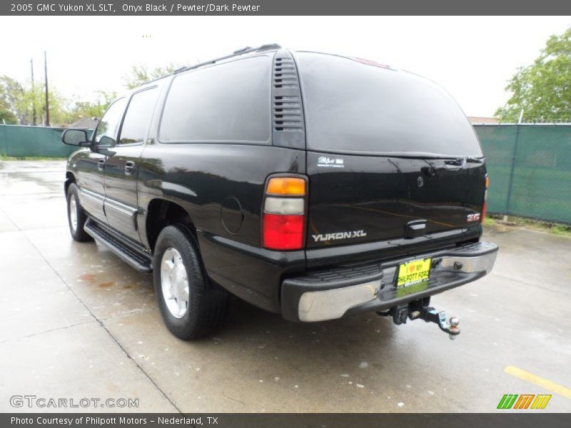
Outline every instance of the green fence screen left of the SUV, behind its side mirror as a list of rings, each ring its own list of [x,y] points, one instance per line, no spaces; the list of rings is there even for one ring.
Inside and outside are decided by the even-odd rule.
[[[61,142],[61,128],[0,125],[0,156],[66,158],[77,150]]]

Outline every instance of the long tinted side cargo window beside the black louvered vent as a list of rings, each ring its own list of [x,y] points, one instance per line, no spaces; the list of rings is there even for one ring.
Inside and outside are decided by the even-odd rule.
[[[163,143],[269,143],[271,60],[254,56],[176,76],[161,119]]]

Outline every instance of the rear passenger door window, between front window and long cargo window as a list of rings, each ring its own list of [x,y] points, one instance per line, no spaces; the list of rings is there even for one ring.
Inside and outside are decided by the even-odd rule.
[[[121,126],[119,144],[143,143],[155,111],[158,91],[156,88],[137,92],[131,97]]]

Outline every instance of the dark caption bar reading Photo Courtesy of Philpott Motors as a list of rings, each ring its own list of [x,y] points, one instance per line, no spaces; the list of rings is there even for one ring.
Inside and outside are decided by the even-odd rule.
[[[568,428],[570,414],[29,413],[0,414],[4,428]]]

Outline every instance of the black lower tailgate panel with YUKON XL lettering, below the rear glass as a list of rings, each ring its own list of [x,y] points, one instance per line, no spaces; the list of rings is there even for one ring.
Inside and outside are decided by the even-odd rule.
[[[308,152],[307,247],[415,238],[477,225],[485,168],[446,162]]]

